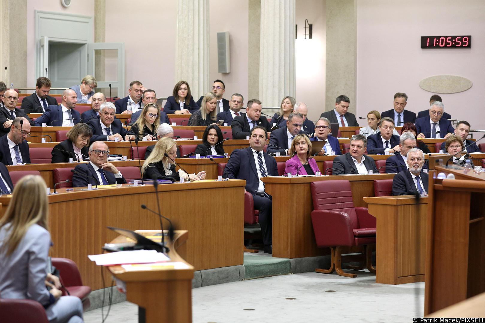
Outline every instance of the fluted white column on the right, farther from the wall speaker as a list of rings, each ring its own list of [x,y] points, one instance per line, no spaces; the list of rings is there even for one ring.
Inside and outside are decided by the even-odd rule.
[[[295,92],[295,0],[261,1],[259,100],[279,107]]]

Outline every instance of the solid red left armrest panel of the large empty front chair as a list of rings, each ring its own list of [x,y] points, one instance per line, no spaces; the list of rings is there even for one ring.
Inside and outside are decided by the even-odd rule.
[[[311,222],[317,246],[354,246],[350,216],[344,212],[314,210]]]

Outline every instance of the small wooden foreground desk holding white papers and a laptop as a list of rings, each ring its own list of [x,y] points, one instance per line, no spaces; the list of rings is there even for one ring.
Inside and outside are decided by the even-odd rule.
[[[160,230],[143,230],[137,233],[146,236],[160,233]],[[145,322],[192,322],[194,267],[178,254],[179,248],[185,249],[188,236],[188,231],[175,231],[173,244],[168,243],[170,252],[167,254],[171,262],[180,261],[186,264],[186,269],[166,268],[127,272],[121,266],[108,267],[114,277],[126,283],[127,300],[145,309]],[[126,241],[126,237],[118,236],[111,243]]]

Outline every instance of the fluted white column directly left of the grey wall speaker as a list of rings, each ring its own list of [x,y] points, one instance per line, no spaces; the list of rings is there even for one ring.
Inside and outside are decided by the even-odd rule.
[[[209,0],[178,0],[175,48],[175,83],[187,81],[197,101],[209,91]]]

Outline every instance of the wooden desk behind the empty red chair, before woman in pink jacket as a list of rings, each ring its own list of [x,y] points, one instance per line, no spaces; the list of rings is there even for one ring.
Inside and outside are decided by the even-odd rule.
[[[363,198],[374,196],[374,180],[393,177],[394,174],[264,177],[265,191],[273,196],[273,257],[302,258],[328,254],[327,248],[319,248],[315,242],[311,223],[311,182],[348,180],[354,205],[367,207]]]

